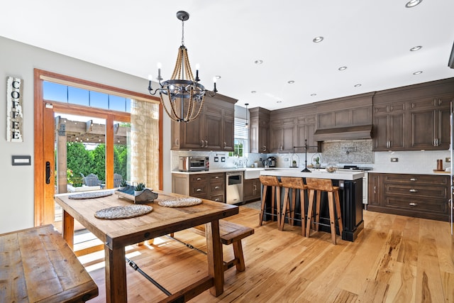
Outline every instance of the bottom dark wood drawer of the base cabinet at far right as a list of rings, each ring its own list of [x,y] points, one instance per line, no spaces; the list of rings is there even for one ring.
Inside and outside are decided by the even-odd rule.
[[[431,214],[448,214],[448,203],[415,200],[407,197],[387,197],[386,206],[407,211],[428,211]]]

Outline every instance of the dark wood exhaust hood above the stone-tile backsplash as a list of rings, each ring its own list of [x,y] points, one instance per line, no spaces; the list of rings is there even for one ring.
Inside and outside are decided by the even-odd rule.
[[[357,140],[372,138],[372,125],[317,129],[315,141]]]

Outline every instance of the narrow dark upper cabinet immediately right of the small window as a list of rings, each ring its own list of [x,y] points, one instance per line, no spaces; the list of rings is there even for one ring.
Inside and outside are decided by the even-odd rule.
[[[255,107],[249,109],[249,151],[270,153],[270,111]]]

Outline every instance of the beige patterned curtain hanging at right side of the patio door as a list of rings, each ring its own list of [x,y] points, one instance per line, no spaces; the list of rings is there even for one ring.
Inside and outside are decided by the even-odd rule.
[[[131,99],[131,181],[159,189],[159,104]]]

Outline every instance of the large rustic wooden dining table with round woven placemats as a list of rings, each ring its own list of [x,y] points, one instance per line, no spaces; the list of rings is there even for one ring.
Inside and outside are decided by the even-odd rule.
[[[104,191],[105,192],[105,191]],[[111,190],[114,192],[114,190]],[[130,219],[97,219],[101,209],[128,206],[133,201],[117,194],[89,199],[71,199],[71,194],[56,194],[55,202],[62,207],[62,236],[68,245],[74,245],[74,219],[104,243],[106,271],[106,302],[127,302],[125,247],[176,231],[206,224],[208,275],[191,285],[182,287],[165,301],[187,301],[210,290],[218,297],[223,293],[223,253],[219,234],[219,219],[238,214],[238,206],[201,199],[202,203],[187,207],[159,206],[160,200],[179,198],[179,194],[155,191],[158,198],[146,205],[149,214]]]

